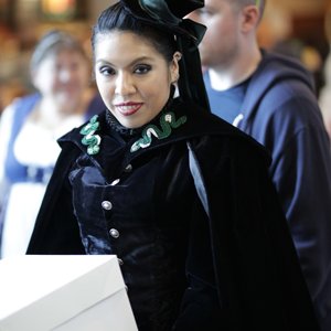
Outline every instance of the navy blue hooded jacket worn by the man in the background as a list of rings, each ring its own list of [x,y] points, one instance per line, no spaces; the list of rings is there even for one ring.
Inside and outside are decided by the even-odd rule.
[[[205,74],[212,113],[222,113]],[[235,125],[273,157],[279,193],[322,330],[331,330],[331,156],[312,78],[296,61],[264,52]]]

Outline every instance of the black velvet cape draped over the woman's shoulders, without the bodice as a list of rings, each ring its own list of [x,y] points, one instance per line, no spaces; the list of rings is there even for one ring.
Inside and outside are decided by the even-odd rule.
[[[222,330],[319,330],[287,222],[268,177],[269,156],[255,140],[194,105],[179,104],[175,109],[188,114],[186,125],[130,154],[127,161],[141,160],[150,150],[167,145],[189,142],[201,175],[195,181],[203,184],[201,195],[209,213]],[[103,137],[105,114],[99,121],[98,134]],[[81,139],[79,128],[60,139],[62,152],[28,254],[85,254],[77,221],[67,213],[72,203],[68,171],[77,157],[86,153]],[[204,245],[200,241],[196,234],[194,245],[189,247],[186,271],[204,279],[201,266],[210,253],[201,248]],[[190,318],[183,312],[182,320]]]

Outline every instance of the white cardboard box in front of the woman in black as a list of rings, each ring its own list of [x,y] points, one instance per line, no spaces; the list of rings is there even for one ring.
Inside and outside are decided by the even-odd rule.
[[[115,255],[0,260],[0,331],[137,331]]]

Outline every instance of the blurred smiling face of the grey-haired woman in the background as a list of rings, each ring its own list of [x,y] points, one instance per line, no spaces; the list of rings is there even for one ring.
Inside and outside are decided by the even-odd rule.
[[[41,61],[33,73],[33,83],[44,98],[70,109],[82,98],[89,75],[88,62],[79,52],[62,50]]]

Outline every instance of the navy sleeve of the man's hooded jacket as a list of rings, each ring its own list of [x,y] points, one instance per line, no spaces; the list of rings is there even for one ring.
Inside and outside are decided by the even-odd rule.
[[[292,109],[300,109],[300,115],[295,117]],[[281,126],[277,118],[273,126],[285,138],[274,150],[271,175],[311,297],[319,301],[331,270],[330,143],[319,109],[309,98],[290,99],[275,116],[281,116]]]

